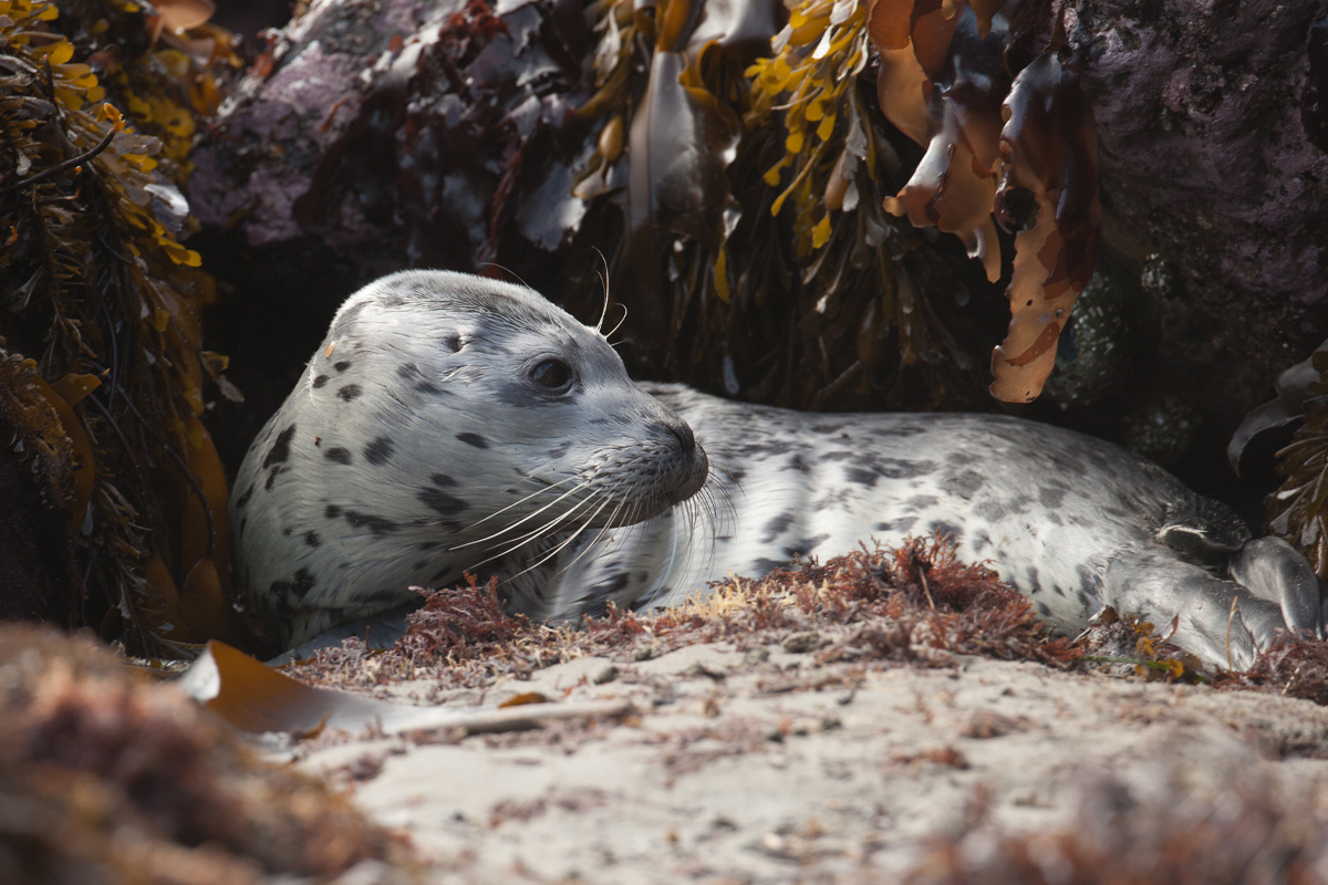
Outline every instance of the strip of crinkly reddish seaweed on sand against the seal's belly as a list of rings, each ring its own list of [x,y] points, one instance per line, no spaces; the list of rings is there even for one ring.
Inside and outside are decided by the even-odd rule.
[[[825,565],[794,564],[758,581],[716,582],[710,593],[653,613],[610,608],[578,628],[531,625],[503,610],[493,584],[469,581],[426,590],[397,645],[374,654],[361,647],[324,650],[291,669],[297,677],[372,687],[380,674],[485,685],[503,674],[586,655],[659,654],[684,645],[781,642],[791,633],[835,636],[819,659],[896,661],[948,666],[948,653],[1040,661],[1068,667],[1076,653],[1054,638],[1028,600],[981,565],[956,560],[942,539],[912,540],[899,549],[859,551]],[[357,671],[369,671],[360,678]]]

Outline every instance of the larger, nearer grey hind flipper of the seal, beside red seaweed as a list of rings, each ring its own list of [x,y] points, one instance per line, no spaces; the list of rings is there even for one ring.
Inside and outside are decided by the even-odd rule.
[[[1175,618],[1173,642],[1222,670],[1250,669],[1258,649],[1286,628],[1278,604],[1169,551],[1123,552],[1113,559],[1102,601],[1157,625]]]

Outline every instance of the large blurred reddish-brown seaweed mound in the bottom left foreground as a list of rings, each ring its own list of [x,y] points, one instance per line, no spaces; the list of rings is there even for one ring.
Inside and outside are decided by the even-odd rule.
[[[220,885],[409,862],[345,797],[259,762],[86,641],[0,625],[0,881]]]

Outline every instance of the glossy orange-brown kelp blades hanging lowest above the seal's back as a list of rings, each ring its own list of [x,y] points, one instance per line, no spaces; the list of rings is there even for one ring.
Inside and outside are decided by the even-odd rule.
[[[880,109],[927,147],[886,208],[957,234],[995,283],[991,212],[1017,227],[1021,203],[1036,203],[1032,224],[1015,238],[1012,320],[992,354],[991,391],[1008,402],[1035,399],[1054,368],[1061,329],[1093,276],[1101,222],[1093,113],[1057,54],[1060,40],[1007,80],[1029,12],[1021,3],[867,4]]]

